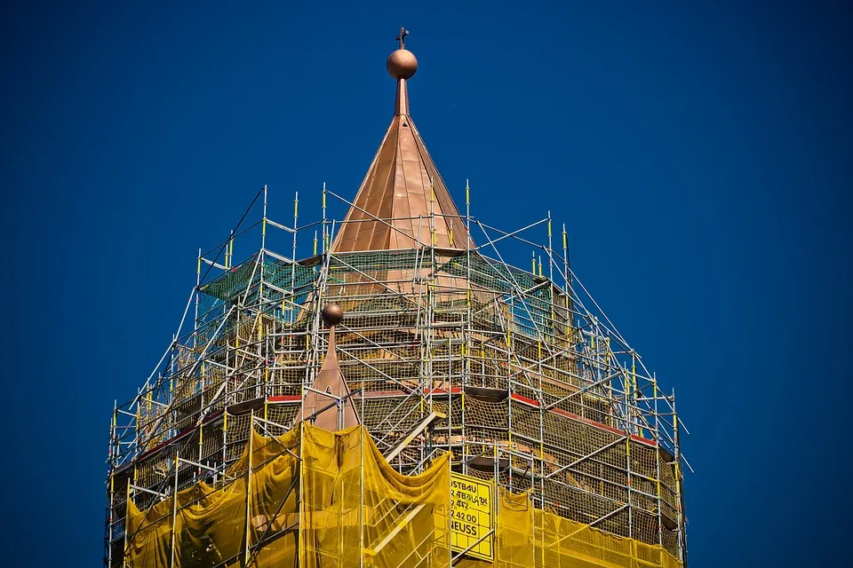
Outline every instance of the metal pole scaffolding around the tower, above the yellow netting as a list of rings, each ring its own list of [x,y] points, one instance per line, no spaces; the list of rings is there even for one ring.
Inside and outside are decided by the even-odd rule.
[[[565,225],[557,248],[550,213],[500,231],[472,216],[466,186],[465,214],[452,222],[471,237],[451,231],[458,248],[334,253],[341,223],[326,216],[329,199],[353,206],[323,186],[319,220],[298,226],[297,194],[283,225],[267,217],[265,186],[225,241],[199,251],[178,331],[114,409],[105,564],[126,565],[129,501],[147,509],[199,481],[221,483],[253,424],[270,436],[297,425],[329,341],[328,303],[346,313],[338,352],[359,420],[397,471],[418,474],[449,454],[454,471],[529,493],[537,509],[685,562],[690,465],[674,392],[572,272]],[[437,217],[406,220],[428,235]],[[533,250],[530,270],[507,264],[509,242]],[[312,254],[298,259],[298,243]],[[253,252],[235,261],[235,249]]]

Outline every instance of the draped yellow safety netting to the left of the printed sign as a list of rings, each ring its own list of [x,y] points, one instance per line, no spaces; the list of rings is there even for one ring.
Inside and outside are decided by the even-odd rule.
[[[410,477],[359,426],[329,432],[303,422],[275,438],[252,431],[229,481],[198,483],[145,512],[128,501],[124,562],[313,568],[358,566],[363,556],[373,566],[446,566],[449,459]]]

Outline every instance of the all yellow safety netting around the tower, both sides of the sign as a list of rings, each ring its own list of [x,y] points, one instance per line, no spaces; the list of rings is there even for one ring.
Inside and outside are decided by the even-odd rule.
[[[535,509],[527,494],[501,489],[496,507],[494,562],[459,557],[453,565],[682,565],[663,548]],[[329,432],[303,422],[280,437],[253,430],[224,481],[197,483],[147,511],[128,501],[124,565],[449,566],[449,510],[450,454],[410,477],[361,426]]]

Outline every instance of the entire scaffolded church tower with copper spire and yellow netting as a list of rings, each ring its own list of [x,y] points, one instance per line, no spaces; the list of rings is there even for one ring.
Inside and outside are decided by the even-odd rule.
[[[108,568],[685,563],[674,395],[572,272],[564,225],[495,229],[513,219],[476,217],[467,184],[454,201],[407,35],[357,191],[285,223],[264,186],[195,259],[174,339],[112,416]]]

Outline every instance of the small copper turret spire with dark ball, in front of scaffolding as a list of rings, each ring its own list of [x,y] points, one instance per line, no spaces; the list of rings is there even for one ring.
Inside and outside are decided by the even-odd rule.
[[[323,367],[302,401],[296,422],[311,418],[315,426],[334,432],[358,424],[358,414],[347,388],[347,379],[340,370],[335,343],[335,326],[344,320],[344,311],[338,304],[326,304],[320,315],[329,327],[329,346]]]

